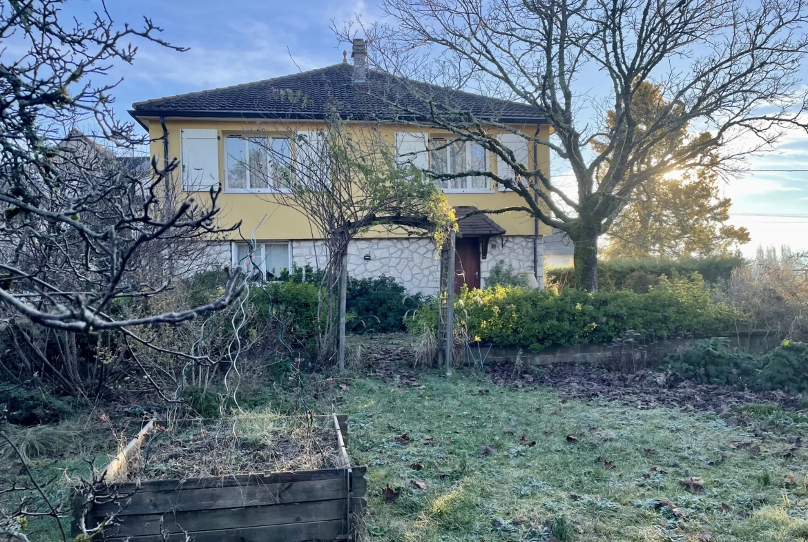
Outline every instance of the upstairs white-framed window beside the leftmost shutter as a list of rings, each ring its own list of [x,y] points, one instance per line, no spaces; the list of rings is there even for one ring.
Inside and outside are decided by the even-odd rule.
[[[288,191],[292,145],[286,137],[227,138],[227,188],[232,191]]]

